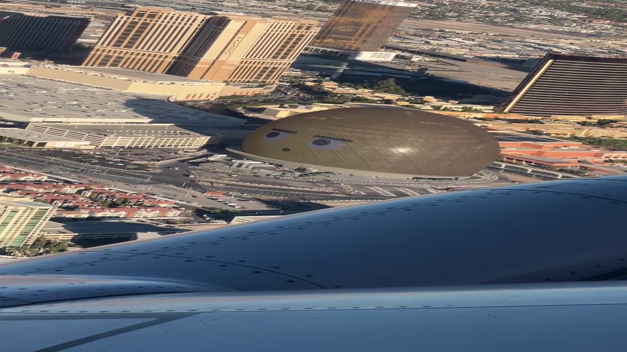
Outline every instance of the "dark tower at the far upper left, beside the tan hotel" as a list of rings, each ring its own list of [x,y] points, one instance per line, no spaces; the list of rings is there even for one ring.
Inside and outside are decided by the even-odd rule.
[[[9,50],[70,51],[91,18],[0,11],[0,46]]]

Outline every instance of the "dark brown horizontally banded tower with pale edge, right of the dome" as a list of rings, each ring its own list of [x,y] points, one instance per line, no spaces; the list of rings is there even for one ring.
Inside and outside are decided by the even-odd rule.
[[[627,57],[546,54],[503,110],[539,117],[626,115]]]

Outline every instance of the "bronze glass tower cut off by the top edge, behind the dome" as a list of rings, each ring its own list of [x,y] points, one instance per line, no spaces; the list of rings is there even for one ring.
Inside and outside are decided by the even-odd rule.
[[[346,0],[322,26],[310,46],[339,51],[377,51],[417,3]]]

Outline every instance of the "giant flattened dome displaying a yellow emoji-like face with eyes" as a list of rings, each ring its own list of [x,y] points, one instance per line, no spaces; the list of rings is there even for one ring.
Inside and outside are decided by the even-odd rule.
[[[426,177],[472,175],[498,153],[497,140],[473,123],[389,107],[340,108],[282,118],[253,131],[240,151],[248,159],[287,167]]]

